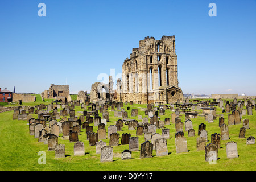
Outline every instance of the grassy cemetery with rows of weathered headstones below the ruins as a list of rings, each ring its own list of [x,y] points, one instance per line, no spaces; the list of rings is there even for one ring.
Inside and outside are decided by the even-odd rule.
[[[75,95],[55,103],[39,98],[0,113],[0,169],[256,169],[251,98],[185,99],[163,105],[87,99]],[[196,114],[181,110],[192,107]]]

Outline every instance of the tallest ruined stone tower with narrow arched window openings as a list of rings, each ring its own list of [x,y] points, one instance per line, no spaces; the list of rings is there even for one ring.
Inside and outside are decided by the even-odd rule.
[[[183,100],[177,78],[175,36],[146,37],[122,65],[122,102],[174,103]]]

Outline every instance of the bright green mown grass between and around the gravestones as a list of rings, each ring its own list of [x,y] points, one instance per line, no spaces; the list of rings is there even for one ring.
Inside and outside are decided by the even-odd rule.
[[[230,100],[231,101],[231,100]],[[42,102],[39,99],[32,103],[23,103],[23,105],[38,105],[40,103],[49,104],[51,101],[46,100]],[[129,118],[137,119],[138,117],[131,117],[131,109],[139,109],[139,115],[142,118],[145,117],[144,111],[141,108],[146,108],[146,105],[124,105],[130,106],[130,110],[127,110]],[[217,114],[224,114],[225,123],[228,124],[228,114],[222,113],[222,110],[218,107]],[[244,107],[245,109],[245,107]],[[75,115],[79,116],[77,111],[83,111],[81,107],[75,106]],[[108,126],[114,125],[119,119],[114,117],[114,112],[110,111],[109,107],[109,120],[106,130],[108,132]],[[202,110],[197,110],[201,113]],[[171,119],[171,110],[166,110],[163,116],[160,116],[160,120],[164,121],[164,118]],[[122,131],[118,131],[120,134],[119,146],[113,147],[113,162],[100,162],[100,154],[95,154],[95,146],[89,146],[89,141],[86,140],[85,129],[81,129],[79,140],[85,144],[85,155],[74,156],[73,146],[74,143],[69,140],[63,140],[62,134],[59,135],[59,144],[65,144],[65,158],[55,159],[55,151],[48,151],[47,145],[42,142],[38,142],[34,136],[29,135],[28,122],[18,121],[12,119],[13,111],[7,111],[0,113],[0,170],[1,171],[254,171],[256,169],[256,144],[246,145],[246,139],[249,136],[256,137],[256,111],[253,109],[253,115],[243,116],[242,119],[248,118],[250,120],[250,129],[246,130],[245,138],[238,138],[242,123],[239,125],[229,126],[229,140],[221,140],[221,148],[218,150],[218,160],[216,164],[209,164],[205,162],[205,151],[196,150],[196,138],[198,126],[200,123],[206,124],[206,130],[208,131],[208,143],[210,143],[210,135],[214,133],[220,133],[220,127],[218,126],[218,117],[213,123],[205,121],[204,117],[197,117],[191,119],[193,122],[193,129],[195,129],[195,137],[188,137],[188,133],[184,129],[184,135],[187,138],[188,152],[176,154],[175,147],[175,127],[174,124],[165,125],[170,129],[170,139],[167,139],[168,155],[156,156],[155,150],[153,151],[152,158],[140,159],[140,151],[132,152],[131,160],[121,160],[121,152],[125,149],[129,149],[128,145],[121,145],[122,133],[130,133],[131,137],[136,136],[136,130],[128,130],[128,126],[122,128]],[[99,113],[102,118],[102,113]],[[34,114],[37,118],[37,115]],[[61,117],[62,118],[62,117]],[[181,122],[185,122],[185,115],[181,115]],[[241,121],[242,121],[241,119]],[[59,121],[60,119],[57,119]],[[90,124],[93,126],[93,124]],[[93,126],[93,131],[97,132],[97,126]],[[162,129],[156,129],[156,132],[162,134]],[[107,133],[108,135],[108,133]],[[109,139],[103,140],[109,144]],[[229,141],[237,142],[238,158],[228,159],[226,157],[225,143]],[[144,142],[144,135],[139,136],[139,150],[141,143]],[[39,164],[38,155],[39,151],[46,152],[46,164]]]

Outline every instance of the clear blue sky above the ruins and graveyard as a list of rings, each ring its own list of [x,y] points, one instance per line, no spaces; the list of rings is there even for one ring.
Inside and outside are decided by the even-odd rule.
[[[117,79],[139,40],[175,35],[184,94],[256,95],[255,0],[1,0],[0,27],[0,87],[17,93],[90,91],[111,69]]]

